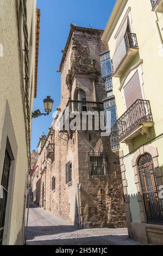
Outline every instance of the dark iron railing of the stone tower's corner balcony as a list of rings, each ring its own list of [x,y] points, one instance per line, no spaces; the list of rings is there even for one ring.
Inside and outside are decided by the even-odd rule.
[[[95,111],[104,111],[104,103],[103,102],[95,102],[95,101],[68,101],[67,107],[70,108],[70,113],[77,111],[80,114],[83,112],[95,112]]]

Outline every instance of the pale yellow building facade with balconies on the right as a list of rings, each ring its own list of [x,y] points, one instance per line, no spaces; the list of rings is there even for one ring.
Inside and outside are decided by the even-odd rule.
[[[117,0],[102,36],[112,59],[130,237],[163,244],[163,1]]]

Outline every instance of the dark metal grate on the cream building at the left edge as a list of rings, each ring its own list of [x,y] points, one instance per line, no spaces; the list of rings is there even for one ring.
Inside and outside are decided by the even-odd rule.
[[[3,240],[4,221],[5,221],[5,213],[6,213],[7,199],[8,199],[10,166],[11,166],[11,159],[8,151],[6,150],[5,158],[4,158],[2,182],[1,182],[1,188],[3,190],[3,194],[1,196],[3,198],[0,198],[0,245],[2,245],[2,240]]]

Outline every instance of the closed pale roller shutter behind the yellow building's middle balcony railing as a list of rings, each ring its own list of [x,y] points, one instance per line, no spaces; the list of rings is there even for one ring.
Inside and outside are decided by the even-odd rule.
[[[126,100],[127,109],[133,105],[136,100],[142,100],[142,92],[138,71],[131,77],[130,81],[124,87],[124,97]]]

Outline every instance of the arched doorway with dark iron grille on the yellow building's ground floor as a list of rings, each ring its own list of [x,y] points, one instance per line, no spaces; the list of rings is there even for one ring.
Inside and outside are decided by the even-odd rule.
[[[149,154],[142,155],[138,162],[138,169],[147,223],[163,224],[163,209],[152,156]]]

